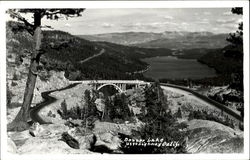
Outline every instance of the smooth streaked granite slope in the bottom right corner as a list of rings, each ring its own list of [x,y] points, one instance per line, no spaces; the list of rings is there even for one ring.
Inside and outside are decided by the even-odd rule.
[[[207,120],[192,120],[188,125],[189,153],[243,152],[243,132]]]

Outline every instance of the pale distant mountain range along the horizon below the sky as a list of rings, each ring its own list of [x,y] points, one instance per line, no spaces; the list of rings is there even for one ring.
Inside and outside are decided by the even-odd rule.
[[[90,41],[105,41],[143,48],[214,49],[225,47],[228,44],[226,41],[228,34],[211,32],[122,32],[77,36]]]

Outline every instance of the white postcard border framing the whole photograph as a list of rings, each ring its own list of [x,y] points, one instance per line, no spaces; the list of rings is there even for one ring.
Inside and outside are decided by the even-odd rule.
[[[6,132],[6,33],[5,10],[8,8],[224,8],[243,7],[244,31],[244,153],[242,154],[161,154],[161,155],[13,155],[7,153]],[[1,158],[3,160],[81,160],[81,159],[248,159],[249,157],[249,2],[248,1],[1,1]]]

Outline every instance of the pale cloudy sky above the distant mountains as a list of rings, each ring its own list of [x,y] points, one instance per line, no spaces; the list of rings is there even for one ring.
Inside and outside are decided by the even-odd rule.
[[[234,32],[241,15],[231,8],[105,8],[86,9],[81,17],[42,24],[74,35],[112,32]]]

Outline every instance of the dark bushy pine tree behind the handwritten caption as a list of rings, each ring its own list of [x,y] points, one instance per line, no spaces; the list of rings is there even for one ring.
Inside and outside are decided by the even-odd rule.
[[[163,94],[159,84],[152,84],[152,86],[145,89],[145,115],[141,116],[141,121],[145,126],[136,134],[143,139],[148,138],[164,138],[166,142],[183,140],[185,133],[179,131],[183,129],[183,125],[178,124],[176,118],[172,115],[171,110],[168,109],[166,98]],[[138,148],[138,146],[136,146]],[[178,148],[172,147],[156,147],[148,146],[140,148],[130,147],[125,149],[128,153],[183,153],[185,146]]]

